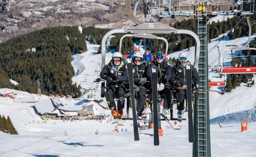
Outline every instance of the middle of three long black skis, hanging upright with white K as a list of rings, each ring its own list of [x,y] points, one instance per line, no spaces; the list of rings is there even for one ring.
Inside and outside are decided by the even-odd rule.
[[[153,117],[154,117],[154,145],[159,145],[158,135],[158,69],[156,66],[151,67],[151,85],[152,85],[152,96],[153,96]]]

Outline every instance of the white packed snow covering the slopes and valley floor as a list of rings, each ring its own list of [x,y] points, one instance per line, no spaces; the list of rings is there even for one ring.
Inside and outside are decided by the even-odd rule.
[[[243,44],[248,37],[236,40],[223,40],[220,42],[220,49],[225,49],[225,45]],[[255,35],[252,36],[255,38]],[[211,49],[217,44],[218,39],[212,40],[209,44]],[[137,44],[137,43],[136,43]],[[82,54],[73,55],[72,65],[75,70],[73,82],[80,84],[85,94],[77,100],[53,99],[63,109],[77,109],[83,103],[94,103],[88,97],[92,93],[94,100],[104,100],[100,97],[98,83],[93,81],[99,77],[101,71],[101,54],[97,54],[99,45],[87,42],[88,51]],[[216,50],[217,51],[217,50]],[[209,65],[216,65],[218,53],[209,53]],[[190,54],[190,61],[194,62],[194,48],[190,51],[183,50]],[[168,57],[177,57],[180,52],[172,53]],[[230,55],[226,51],[224,55]],[[233,52],[235,54],[238,51]],[[111,53],[106,53],[106,63],[111,59]],[[231,60],[226,59],[226,65]],[[214,72],[209,73],[209,79],[223,80]],[[212,87],[213,90],[220,88]],[[49,97],[27,92],[5,89],[16,93],[15,102],[9,97],[0,97],[0,114],[9,115],[19,135],[8,135],[0,132],[0,156],[1,157],[184,157],[192,156],[192,144],[188,142],[188,124],[183,122],[181,130],[173,130],[167,122],[161,122],[164,136],[160,137],[160,146],[153,145],[153,129],[141,130],[139,141],[134,141],[132,121],[124,122],[124,126],[119,126],[119,133],[113,131],[114,125],[106,120],[48,120],[43,121],[31,106],[39,102],[46,102]],[[245,92],[246,91],[246,92]],[[252,114],[252,122],[249,123],[248,130],[241,132],[240,121],[245,121],[248,112],[253,108],[256,100],[256,86],[248,88],[245,84],[234,89],[231,93],[220,95],[220,93],[210,92],[210,133],[211,133],[211,156],[212,157],[255,157],[256,156],[256,113]],[[41,103],[42,105],[43,103]],[[89,104],[87,104],[89,105]],[[73,107],[72,107],[73,106]],[[97,103],[95,105],[97,114],[109,115],[109,110],[103,109]],[[174,106],[176,108],[176,106]],[[44,108],[43,108],[44,109]],[[50,108],[52,109],[52,108]],[[242,112],[242,113],[241,113]],[[174,117],[176,117],[176,110]],[[238,114],[239,113],[239,114]],[[233,115],[232,115],[233,114]],[[235,121],[229,123],[225,120],[223,127],[219,128],[216,122],[224,117],[232,116]],[[247,116],[246,116],[247,115]],[[185,113],[184,117],[187,117]],[[219,118],[219,119],[218,119]],[[212,121],[213,120],[213,121]],[[121,128],[127,132],[121,132]],[[95,132],[98,130],[98,134]]]

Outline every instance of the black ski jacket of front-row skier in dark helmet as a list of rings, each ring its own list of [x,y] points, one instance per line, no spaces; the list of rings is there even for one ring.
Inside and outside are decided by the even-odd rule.
[[[151,82],[151,67],[156,66],[158,68],[158,83],[166,84],[171,79],[171,66],[167,62],[158,63],[153,60],[151,64],[148,64],[146,69],[146,76],[148,81]],[[175,75],[174,75],[175,76]]]

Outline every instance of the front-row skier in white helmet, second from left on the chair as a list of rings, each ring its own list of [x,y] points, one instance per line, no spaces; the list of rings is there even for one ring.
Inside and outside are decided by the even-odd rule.
[[[142,111],[146,102],[146,87],[143,85],[147,81],[147,78],[146,64],[143,62],[143,55],[140,52],[133,54],[133,81],[135,97],[137,98],[137,117],[138,119],[142,119]]]

